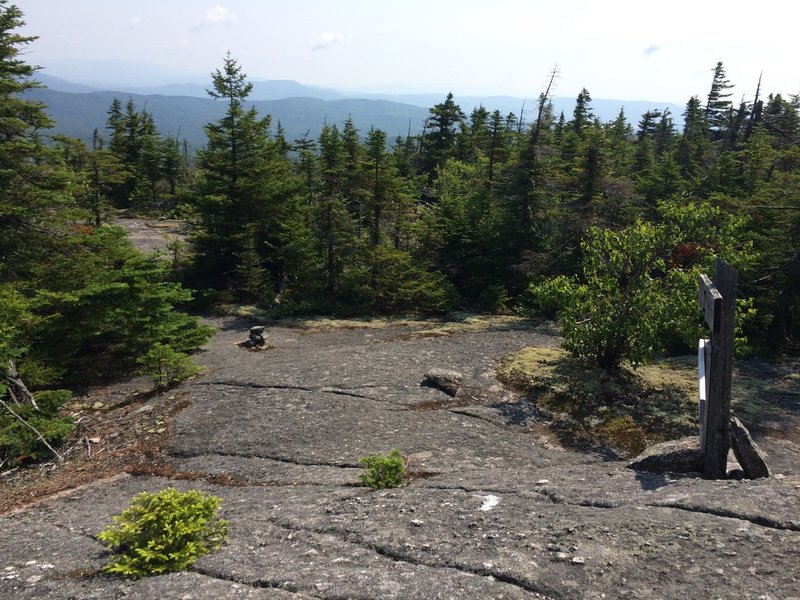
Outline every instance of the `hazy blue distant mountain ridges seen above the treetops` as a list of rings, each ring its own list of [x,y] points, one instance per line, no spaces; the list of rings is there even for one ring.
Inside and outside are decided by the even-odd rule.
[[[132,98],[140,110],[146,107],[153,114],[161,133],[186,139],[194,148],[205,144],[204,125],[219,119],[225,111],[224,103],[212,100],[206,92],[208,86],[199,83],[96,87],[45,73],[38,73],[36,79],[46,88],[31,90],[27,97],[47,106],[55,121],[50,133],[84,140],[91,139],[95,129],[101,133],[105,130],[107,111],[114,98],[123,101]],[[351,96],[292,80],[270,80],[253,81],[249,99],[261,114],[272,116],[273,126],[280,121],[291,142],[306,132],[317,137],[325,123],[341,126],[348,116],[362,134],[374,126],[384,130],[390,140],[409,131],[416,135],[422,131],[428,109],[442,102],[445,96],[446,93]],[[466,114],[482,105],[489,111],[499,110],[504,116],[513,112],[519,117],[522,113],[525,122],[530,122],[536,111],[535,100],[512,96],[456,96],[455,101]],[[574,99],[558,97],[552,102],[556,115],[563,111],[567,119],[572,116]],[[670,103],[594,99],[591,106],[601,121],[616,118],[621,108],[633,124],[647,110],[669,109],[676,125],[682,121],[683,107]]]

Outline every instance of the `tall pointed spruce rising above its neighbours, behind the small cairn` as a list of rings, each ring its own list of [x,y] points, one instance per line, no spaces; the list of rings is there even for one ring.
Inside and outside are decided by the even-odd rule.
[[[230,54],[212,74],[208,94],[227,108],[225,116],[206,125],[208,143],[198,153],[194,192],[198,275],[211,287],[228,287],[244,296],[255,292],[240,287],[243,280],[237,273],[245,257],[247,272],[265,269],[273,285],[283,278],[296,212],[288,162],[270,139],[270,117],[245,106],[252,87]],[[261,295],[271,299],[270,291]]]

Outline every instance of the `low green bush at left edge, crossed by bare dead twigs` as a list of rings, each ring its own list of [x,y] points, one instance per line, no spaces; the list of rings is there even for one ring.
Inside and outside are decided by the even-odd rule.
[[[0,393],[3,393],[0,386]],[[12,404],[12,410],[31,427],[42,434],[51,446],[69,436],[75,424],[69,417],[59,417],[59,409],[72,397],[68,390],[37,392],[37,411],[30,404]],[[39,460],[50,452],[47,445],[30,428],[26,427],[6,407],[0,406],[0,463],[9,461],[16,465],[26,460]]]

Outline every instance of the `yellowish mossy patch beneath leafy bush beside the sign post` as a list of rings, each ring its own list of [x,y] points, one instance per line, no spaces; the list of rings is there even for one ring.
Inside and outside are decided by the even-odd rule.
[[[686,359],[611,376],[555,348],[507,356],[498,378],[552,416],[562,443],[603,446],[628,457],[697,431],[696,374]]]

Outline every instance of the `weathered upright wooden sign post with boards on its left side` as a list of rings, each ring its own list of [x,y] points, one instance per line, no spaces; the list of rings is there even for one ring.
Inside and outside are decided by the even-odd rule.
[[[706,275],[700,276],[698,303],[711,330],[710,343],[701,340],[698,349],[698,366],[703,375],[700,385],[705,388],[700,394],[700,451],[703,475],[709,479],[724,478],[728,469],[738,280],[736,270],[719,259],[714,265],[713,282]]]

